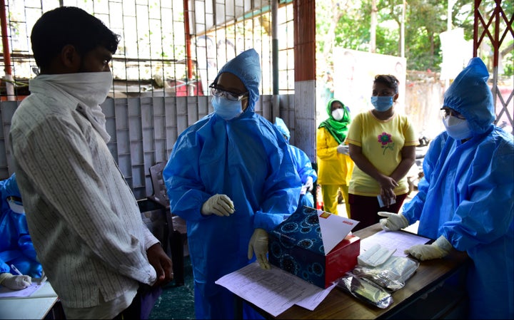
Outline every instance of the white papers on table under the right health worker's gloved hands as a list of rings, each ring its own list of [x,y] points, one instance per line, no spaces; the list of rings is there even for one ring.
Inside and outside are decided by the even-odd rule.
[[[371,249],[375,244],[380,244],[388,250],[395,250],[396,257],[407,257],[403,250],[409,249],[415,244],[425,244],[430,239],[403,231],[380,231],[366,239],[361,239],[361,254]]]

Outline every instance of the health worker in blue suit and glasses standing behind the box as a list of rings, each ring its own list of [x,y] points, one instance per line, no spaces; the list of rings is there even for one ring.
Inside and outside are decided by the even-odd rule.
[[[261,64],[254,49],[221,68],[214,112],[178,137],[163,170],[171,212],[187,222],[197,319],[233,319],[234,296],[216,280],[256,259],[269,269],[268,232],[298,206],[301,181],[288,145],[255,113]],[[243,317],[261,318],[250,306]]]

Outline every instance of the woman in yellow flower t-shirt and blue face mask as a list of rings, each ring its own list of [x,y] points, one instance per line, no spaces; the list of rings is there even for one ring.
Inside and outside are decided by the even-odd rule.
[[[415,162],[418,140],[407,116],[395,113],[396,99],[398,79],[375,76],[371,96],[374,108],[359,113],[348,131],[346,143],[356,164],[348,197],[351,218],[359,221],[353,231],[379,222],[379,211],[398,213],[407,197],[406,174]]]

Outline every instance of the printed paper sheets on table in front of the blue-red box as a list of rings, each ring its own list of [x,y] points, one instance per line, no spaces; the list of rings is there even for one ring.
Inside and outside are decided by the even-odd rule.
[[[261,269],[258,262],[221,277],[216,284],[226,287],[272,316],[278,316],[293,304],[312,311],[336,287],[333,284],[327,289],[321,289],[273,265],[269,270]]]

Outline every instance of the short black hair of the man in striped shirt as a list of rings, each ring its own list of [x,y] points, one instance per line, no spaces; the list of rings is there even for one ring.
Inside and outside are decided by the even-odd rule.
[[[100,19],[74,6],[60,6],[45,12],[31,33],[32,52],[40,68],[49,66],[66,45],[74,46],[81,56],[98,46],[114,54],[119,40],[119,35]]]

